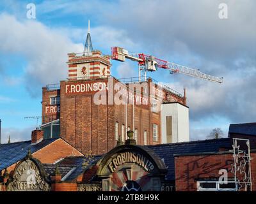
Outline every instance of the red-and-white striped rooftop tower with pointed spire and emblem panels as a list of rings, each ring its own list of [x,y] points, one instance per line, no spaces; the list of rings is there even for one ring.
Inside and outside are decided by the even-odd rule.
[[[83,53],[68,54],[68,80],[107,78],[110,75],[110,57],[93,50],[90,35],[90,20]]]

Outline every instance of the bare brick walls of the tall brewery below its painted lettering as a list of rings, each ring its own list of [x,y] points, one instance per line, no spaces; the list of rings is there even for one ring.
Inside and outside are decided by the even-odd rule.
[[[102,82],[103,79],[90,80]],[[107,82],[107,81],[106,81]],[[117,80],[114,83],[118,82]],[[65,85],[74,81],[61,82],[60,135],[78,150],[85,153],[104,154],[116,145],[115,122],[125,125],[125,105],[95,105],[95,93],[66,94]],[[161,143],[161,113],[152,113],[149,105],[135,105],[134,128],[138,129],[138,144],[143,145],[143,132],[147,131],[147,144]],[[152,141],[152,124],[158,125],[159,140]],[[127,127],[132,127],[132,105],[127,105]]]

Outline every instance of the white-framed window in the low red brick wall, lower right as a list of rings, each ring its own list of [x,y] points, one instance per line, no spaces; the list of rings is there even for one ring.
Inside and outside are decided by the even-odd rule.
[[[198,181],[197,191],[236,191],[236,182],[221,184],[219,181]]]

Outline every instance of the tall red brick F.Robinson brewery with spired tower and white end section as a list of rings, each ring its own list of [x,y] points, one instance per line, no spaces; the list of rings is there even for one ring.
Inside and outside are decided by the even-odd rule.
[[[45,138],[61,136],[79,151],[95,154],[113,149],[119,136],[124,142],[130,129],[140,145],[189,141],[186,94],[159,87],[152,78],[112,77],[110,57],[93,50],[90,33],[84,52],[68,54],[67,64],[67,80],[42,89]]]

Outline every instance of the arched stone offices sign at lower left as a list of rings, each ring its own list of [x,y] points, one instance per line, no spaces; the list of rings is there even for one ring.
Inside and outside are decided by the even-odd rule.
[[[42,177],[38,165],[33,160],[25,159],[18,164],[7,191],[50,191],[49,184]]]

